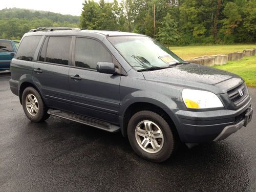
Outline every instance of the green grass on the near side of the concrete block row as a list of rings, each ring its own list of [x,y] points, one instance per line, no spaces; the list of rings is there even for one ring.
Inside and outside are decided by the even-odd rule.
[[[238,74],[245,80],[248,87],[256,87],[256,55],[244,57],[238,61],[228,61],[226,65],[214,66],[214,68]]]

